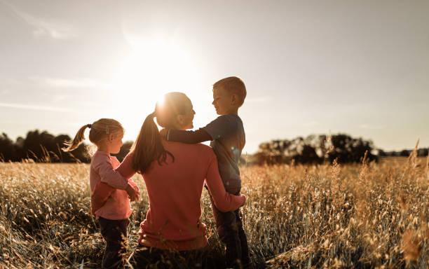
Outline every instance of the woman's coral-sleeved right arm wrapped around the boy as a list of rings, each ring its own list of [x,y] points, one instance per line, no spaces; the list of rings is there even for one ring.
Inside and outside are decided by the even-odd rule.
[[[246,202],[245,195],[232,195],[225,191],[217,167],[217,158],[214,154],[207,169],[205,184],[207,184],[210,195],[212,195],[214,205],[216,205],[217,209],[221,212],[234,211],[242,207]]]

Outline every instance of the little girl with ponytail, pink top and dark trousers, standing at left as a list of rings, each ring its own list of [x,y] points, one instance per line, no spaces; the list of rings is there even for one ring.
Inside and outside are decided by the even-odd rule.
[[[91,212],[100,222],[106,240],[102,268],[122,268],[132,212],[130,200],[138,200],[139,188],[132,179],[127,180],[115,171],[119,161],[110,153],[119,152],[124,133],[121,123],[116,120],[101,118],[93,124],[83,125],[64,151],[73,151],[83,142],[86,128],[90,128],[90,142],[97,146],[90,165]],[[102,200],[95,197],[100,192],[104,193]]]

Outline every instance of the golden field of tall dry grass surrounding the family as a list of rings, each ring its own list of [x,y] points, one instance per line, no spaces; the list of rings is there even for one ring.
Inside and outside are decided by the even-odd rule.
[[[429,158],[241,167],[254,268],[429,268]],[[129,252],[148,209],[132,203]],[[0,163],[0,268],[100,268],[89,166]],[[203,191],[213,266],[222,245]]]

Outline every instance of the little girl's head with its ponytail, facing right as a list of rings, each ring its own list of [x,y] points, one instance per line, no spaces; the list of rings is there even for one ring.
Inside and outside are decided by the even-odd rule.
[[[73,141],[66,143],[64,151],[73,151],[85,139],[86,128],[90,128],[89,139],[98,149],[108,153],[118,153],[122,146],[124,134],[121,123],[111,118],[100,118],[93,124],[83,125],[76,133]]]

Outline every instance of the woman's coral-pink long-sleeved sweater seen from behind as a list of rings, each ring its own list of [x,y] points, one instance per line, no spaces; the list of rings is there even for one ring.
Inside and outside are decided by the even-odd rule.
[[[143,174],[149,196],[149,210],[140,224],[139,244],[179,251],[207,244],[207,228],[200,221],[201,193],[207,184],[216,207],[224,212],[245,204],[244,195],[226,193],[212,148],[203,144],[163,141],[168,165],[154,161]],[[132,177],[132,153],[117,168],[125,178]]]

